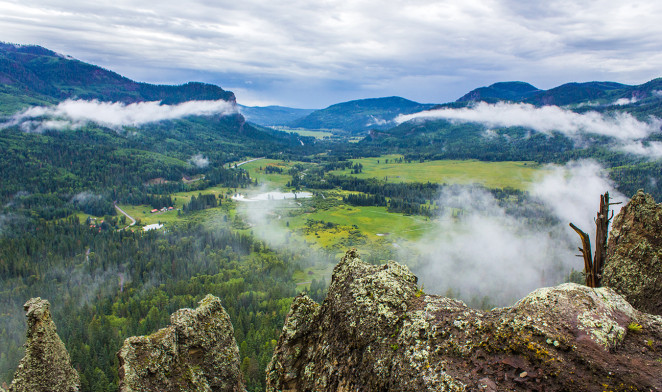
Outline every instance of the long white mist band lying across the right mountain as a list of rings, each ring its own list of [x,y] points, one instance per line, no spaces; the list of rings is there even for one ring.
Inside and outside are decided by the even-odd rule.
[[[622,101],[619,104],[625,104]],[[584,134],[596,134],[614,138],[615,148],[624,148],[633,142],[653,133],[660,132],[662,120],[650,117],[648,121],[639,121],[629,113],[602,114],[594,111],[575,113],[558,106],[536,107],[525,103],[499,102],[488,104],[478,102],[470,107],[452,109],[443,108],[414,114],[400,115],[395,121],[399,124],[414,120],[444,119],[456,122],[474,122],[487,127],[527,127],[549,134],[558,131],[574,140],[580,140]],[[649,156],[648,149],[624,150],[633,154]],[[653,155],[652,157],[655,157]]]

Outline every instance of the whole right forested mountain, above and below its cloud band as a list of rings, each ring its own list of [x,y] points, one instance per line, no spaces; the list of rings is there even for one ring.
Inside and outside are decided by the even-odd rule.
[[[511,101],[531,104],[532,107],[515,105],[498,109],[512,109],[513,112],[509,114],[511,119],[508,121],[514,121],[512,123],[515,124],[516,121],[512,118],[527,116],[537,107],[569,105],[554,109],[558,111],[555,117],[564,116],[569,123],[576,121],[571,127],[573,132],[576,130],[577,133],[554,129],[541,132],[527,127],[525,123],[500,125],[498,121],[491,122],[491,115],[480,112],[481,109],[474,105],[476,101],[487,101],[489,104],[510,101],[506,97],[514,96],[510,93],[497,93],[497,87],[502,91],[507,91],[508,88],[512,91],[513,87],[526,90],[525,86],[518,83],[492,85],[474,90],[461,98],[463,101],[435,107],[446,110],[449,116],[447,119],[416,119],[391,129],[373,130],[359,143],[357,149],[364,154],[399,152],[410,160],[480,159],[564,163],[592,158],[610,168],[612,179],[625,194],[644,189],[656,199],[662,197],[662,184],[655,180],[662,172],[662,161],[654,152],[654,146],[662,140],[662,131],[657,120],[651,120],[650,117],[662,117],[662,79],[654,79],[638,86],[612,82],[569,83],[551,90],[535,92],[528,98]],[[475,97],[474,101],[466,100],[472,99],[472,96]],[[455,109],[465,110],[463,113],[476,109],[473,111],[475,120],[454,120],[453,116],[459,113],[453,112]],[[498,111],[497,108],[494,110]],[[585,119],[577,117],[587,112],[595,113]],[[625,114],[631,114],[632,121],[648,124],[639,125],[648,129],[648,134],[636,141],[629,140],[627,125],[614,125],[619,118],[625,118]],[[551,118],[536,121],[543,123],[549,120]],[[592,130],[587,129],[586,124],[592,121],[601,121],[602,125],[593,127]],[[628,124],[630,123],[632,122]],[[616,137],[615,134],[606,133],[602,130],[605,127],[619,129],[615,132],[622,135]],[[655,127],[656,130],[653,129]],[[628,149],[628,143],[641,145],[639,153],[635,154],[633,149]],[[645,148],[649,148],[648,152]]]

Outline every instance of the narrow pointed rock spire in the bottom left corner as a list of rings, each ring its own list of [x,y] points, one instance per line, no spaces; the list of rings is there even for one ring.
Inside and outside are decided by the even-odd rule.
[[[18,365],[10,392],[78,391],[78,373],[60,340],[50,312],[51,304],[32,298],[23,305],[28,318],[25,357]]]

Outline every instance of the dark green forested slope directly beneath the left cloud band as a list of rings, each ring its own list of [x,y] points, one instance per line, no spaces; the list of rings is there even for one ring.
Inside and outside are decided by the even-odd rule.
[[[47,220],[75,211],[113,214],[113,201],[160,208],[164,200],[155,194],[252,183],[246,171],[224,168],[224,162],[300,146],[248,125],[244,134],[237,133],[237,121],[191,118],[135,130],[86,125],[43,133],[5,128],[0,132],[0,203],[15,202]],[[201,151],[215,164],[198,167],[188,161]],[[79,197],[83,193],[90,197]]]

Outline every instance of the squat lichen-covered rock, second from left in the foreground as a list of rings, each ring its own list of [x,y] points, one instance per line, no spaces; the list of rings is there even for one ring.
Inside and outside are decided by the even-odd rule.
[[[245,391],[234,329],[218,298],[178,310],[170,323],[124,341],[117,353],[121,392]]]

